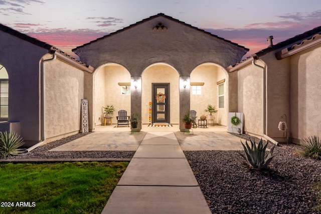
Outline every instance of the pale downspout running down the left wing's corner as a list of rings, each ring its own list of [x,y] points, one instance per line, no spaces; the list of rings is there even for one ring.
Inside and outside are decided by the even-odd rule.
[[[36,145],[33,145],[32,147],[25,150],[25,152],[30,152],[31,150],[37,148],[38,146],[41,146],[45,143],[46,136],[45,136],[45,121],[46,121],[46,114],[45,114],[45,62],[48,61],[54,61],[56,59],[56,55],[53,53],[52,58],[41,60],[41,68],[40,68],[40,76],[41,76],[41,142],[37,143]]]

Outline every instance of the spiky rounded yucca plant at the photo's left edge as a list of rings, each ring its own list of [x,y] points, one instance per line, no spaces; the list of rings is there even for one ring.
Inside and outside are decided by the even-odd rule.
[[[9,157],[22,153],[19,148],[24,144],[23,139],[15,132],[0,132],[0,157]]]

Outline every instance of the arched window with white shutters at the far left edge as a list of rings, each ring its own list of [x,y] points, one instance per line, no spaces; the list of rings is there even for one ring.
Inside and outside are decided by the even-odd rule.
[[[6,68],[0,64],[0,120],[9,117],[9,75]]]

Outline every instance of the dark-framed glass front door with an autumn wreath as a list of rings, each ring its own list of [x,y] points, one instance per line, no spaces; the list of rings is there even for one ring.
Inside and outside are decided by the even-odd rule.
[[[152,123],[170,123],[170,83],[152,83]]]

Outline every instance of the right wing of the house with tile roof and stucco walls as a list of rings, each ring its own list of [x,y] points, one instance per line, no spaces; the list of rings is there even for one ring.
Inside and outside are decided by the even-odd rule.
[[[238,112],[244,131],[286,142],[321,136],[321,27],[257,52],[227,70],[238,76]],[[254,63],[253,63],[254,62]]]

